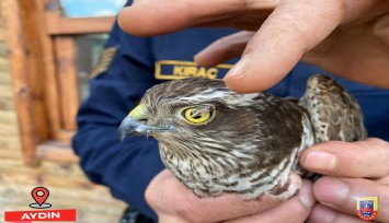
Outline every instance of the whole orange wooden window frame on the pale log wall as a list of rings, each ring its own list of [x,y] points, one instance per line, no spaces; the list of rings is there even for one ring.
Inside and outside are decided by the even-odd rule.
[[[73,37],[107,33],[115,17],[65,17],[58,0],[1,1],[24,162],[77,162],[70,148],[80,103]]]

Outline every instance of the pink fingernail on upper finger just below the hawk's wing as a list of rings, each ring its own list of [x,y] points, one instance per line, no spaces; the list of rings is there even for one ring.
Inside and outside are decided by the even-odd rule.
[[[336,166],[336,157],[328,152],[311,151],[304,161],[305,167],[312,171],[333,171]]]

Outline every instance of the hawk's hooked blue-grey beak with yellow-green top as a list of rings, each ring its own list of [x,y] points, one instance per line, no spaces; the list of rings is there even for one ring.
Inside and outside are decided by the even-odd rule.
[[[122,121],[117,130],[121,141],[123,141],[128,134],[135,136],[161,131],[172,131],[171,127],[155,127],[146,125],[147,118],[145,117],[145,111],[146,105],[140,104],[134,108]]]

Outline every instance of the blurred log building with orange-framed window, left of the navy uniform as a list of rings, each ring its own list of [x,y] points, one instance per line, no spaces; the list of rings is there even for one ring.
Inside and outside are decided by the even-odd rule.
[[[125,208],[78,166],[70,140],[88,80],[125,0],[0,0],[0,222],[44,186],[77,222],[117,222]]]

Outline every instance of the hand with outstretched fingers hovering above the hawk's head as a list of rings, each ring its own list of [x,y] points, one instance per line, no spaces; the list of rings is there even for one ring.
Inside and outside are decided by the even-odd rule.
[[[211,66],[245,48],[225,78],[237,92],[273,86],[301,58],[348,80],[389,87],[387,1],[138,0],[119,13],[118,22],[142,36],[191,26],[261,26],[253,36],[236,34],[242,39],[219,40],[196,57],[199,64]]]

